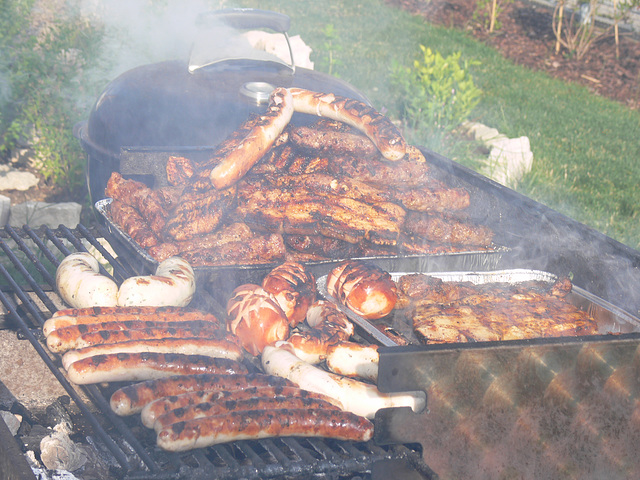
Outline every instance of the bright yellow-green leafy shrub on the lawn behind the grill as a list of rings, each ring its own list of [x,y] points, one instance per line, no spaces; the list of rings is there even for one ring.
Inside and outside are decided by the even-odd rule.
[[[468,118],[482,92],[473,83],[461,53],[446,58],[420,45],[422,59],[412,67],[396,65],[391,82],[399,89],[403,117],[409,128],[450,132]]]

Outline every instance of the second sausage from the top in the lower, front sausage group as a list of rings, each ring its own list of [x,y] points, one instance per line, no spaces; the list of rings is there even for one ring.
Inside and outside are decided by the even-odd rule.
[[[326,395],[302,390],[299,387],[280,385],[275,387],[248,387],[243,390],[197,390],[195,392],[163,397],[148,403],[140,412],[140,417],[145,427],[154,428],[156,419],[176,409],[185,409],[200,403],[226,402],[229,400],[241,401],[256,397],[315,398],[324,400],[342,409],[342,405]]]

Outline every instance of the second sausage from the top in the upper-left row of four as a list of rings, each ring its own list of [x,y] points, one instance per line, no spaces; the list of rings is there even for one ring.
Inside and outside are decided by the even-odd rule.
[[[187,325],[185,325],[187,324]],[[78,325],[54,330],[47,337],[47,347],[54,353],[66,352],[92,345],[105,343],[119,343],[129,340],[148,340],[160,338],[224,338],[227,332],[220,330],[217,325],[207,322],[184,322],[178,327],[142,328],[138,330],[100,330],[78,335]]]

